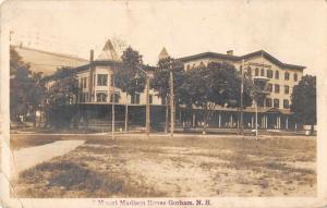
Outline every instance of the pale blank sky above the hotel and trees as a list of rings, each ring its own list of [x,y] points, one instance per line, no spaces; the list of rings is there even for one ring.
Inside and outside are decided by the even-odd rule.
[[[4,8],[13,42],[85,59],[112,38],[138,50],[147,64],[156,64],[162,47],[173,58],[264,49],[305,65],[306,73],[326,70],[325,0],[12,0]]]

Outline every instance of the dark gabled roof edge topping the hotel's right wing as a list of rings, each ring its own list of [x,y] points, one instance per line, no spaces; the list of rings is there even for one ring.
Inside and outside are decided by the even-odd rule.
[[[223,53],[217,53],[217,52],[203,52],[203,53],[198,53],[198,54],[183,57],[183,58],[180,58],[179,60],[182,62],[186,62],[186,61],[194,61],[197,59],[209,58],[209,59],[222,59],[226,61],[241,61],[243,59],[246,60],[246,59],[251,59],[251,58],[257,57],[257,56],[263,56],[264,58],[266,58],[267,60],[271,61],[272,63],[275,63],[276,65],[278,65],[282,69],[294,69],[294,70],[304,70],[305,69],[305,66],[302,66],[302,65],[283,63],[264,50],[258,50],[258,51],[251,52],[251,53],[247,53],[244,56],[232,56],[232,54],[223,54]]]

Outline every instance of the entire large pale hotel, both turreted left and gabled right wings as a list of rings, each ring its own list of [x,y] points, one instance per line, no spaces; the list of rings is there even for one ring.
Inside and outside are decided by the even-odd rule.
[[[159,59],[169,57],[164,48]],[[227,62],[233,64],[237,70],[242,70],[252,78],[265,77],[268,81],[265,99],[258,100],[257,110],[254,106],[244,109],[243,122],[249,129],[255,127],[257,112],[257,123],[259,129],[291,130],[296,129],[295,120],[290,111],[291,94],[294,85],[299,83],[305,66],[288,64],[274,58],[264,50],[234,56],[233,51],[227,53],[204,52],[178,59],[187,71],[198,65],[206,65],[209,62]],[[120,88],[113,86],[113,71],[119,70],[121,64],[110,40],[104,47],[102,52],[94,59],[93,52],[88,63],[75,68],[81,94],[77,103],[84,109],[92,111],[96,117],[110,117],[110,106],[117,106],[118,120],[124,120],[124,109],[130,109],[129,120],[145,121],[146,94],[135,93],[128,95]],[[144,66],[144,70],[152,74],[154,66]],[[149,103],[152,109],[152,124],[165,121],[165,100],[161,100],[154,89],[149,90]],[[194,108],[192,115],[187,109],[177,107],[177,123],[187,123],[192,126],[203,125],[202,109]],[[95,113],[94,113],[95,112]],[[142,120],[142,121],[141,121]],[[240,126],[240,109],[217,107],[210,118],[208,127],[238,127]],[[133,122],[133,121],[132,121]]]

